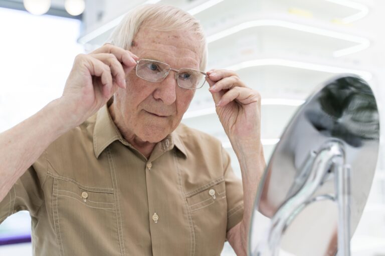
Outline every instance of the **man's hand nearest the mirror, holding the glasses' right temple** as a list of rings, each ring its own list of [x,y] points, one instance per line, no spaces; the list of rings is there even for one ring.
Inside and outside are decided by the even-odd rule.
[[[232,70],[213,69],[207,72],[217,114],[234,146],[260,142],[261,95],[249,88]]]

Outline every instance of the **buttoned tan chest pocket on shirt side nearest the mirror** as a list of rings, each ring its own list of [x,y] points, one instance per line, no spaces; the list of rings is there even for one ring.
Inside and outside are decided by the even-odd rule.
[[[186,193],[186,200],[194,223],[196,255],[220,255],[227,226],[224,178]]]

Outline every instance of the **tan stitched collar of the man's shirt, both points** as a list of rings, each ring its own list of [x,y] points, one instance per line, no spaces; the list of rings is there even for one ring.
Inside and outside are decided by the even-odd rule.
[[[96,158],[115,140],[119,140],[123,144],[131,146],[122,136],[119,129],[116,127],[111,115],[108,111],[108,106],[111,104],[111,100],[99,109],[96,115],[96,122],[94,127],[94,153]],[[167,135],[162,141],[160,141],[163,149],[170,150],[176,146],[186,157],[186,149],[183,141],[180,138],[176,130]],[[131,146],[132,147],[132,146]]]

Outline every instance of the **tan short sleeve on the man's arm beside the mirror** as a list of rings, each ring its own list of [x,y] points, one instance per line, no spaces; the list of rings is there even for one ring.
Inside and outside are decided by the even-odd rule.
[[[224,161],[227,199],[226,232],[228,232],[231,228],[241,222],[243,218],[243,185],[242,179],[235,175],[233,168],[231,167],[230,155],[224,148],[222,148],[222,157]]]

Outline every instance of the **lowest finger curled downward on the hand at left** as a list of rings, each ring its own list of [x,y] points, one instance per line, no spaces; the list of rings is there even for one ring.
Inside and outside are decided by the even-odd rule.
[[[99,76],[100,81],[103,86],[103,96],[109,98],[111,88],[113,85],[111,69],[108,65],[106,65],[103,61],[91,57],[89,55],[85,55],[86,66],[90,71],[91,75]]]

